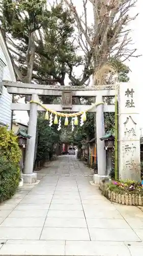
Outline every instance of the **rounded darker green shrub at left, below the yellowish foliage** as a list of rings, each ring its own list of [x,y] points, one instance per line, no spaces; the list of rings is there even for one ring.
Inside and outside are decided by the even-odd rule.
[[[0,156],[0,203],[11,198],[19,184],[20,169],[17,163]]]

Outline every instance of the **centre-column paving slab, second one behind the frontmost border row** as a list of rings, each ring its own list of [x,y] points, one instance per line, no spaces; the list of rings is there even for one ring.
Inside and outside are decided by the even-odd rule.
[[[45,227],[87,227],[84,218],[46,218]]]

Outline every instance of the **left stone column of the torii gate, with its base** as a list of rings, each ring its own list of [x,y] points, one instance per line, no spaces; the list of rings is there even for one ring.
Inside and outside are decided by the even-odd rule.
[[[38,101],[38,95],[33,94],[32,100]],[[30,120],[28,122],[28,135],[32,137],[27,140],[27,144],[26,144],[26,153],[25,153],[24,170],[23,170],[24,183],[35,183],[37,180],[37,174],[33,173],[36,129],[37,129],[37,104],[31,103]]]

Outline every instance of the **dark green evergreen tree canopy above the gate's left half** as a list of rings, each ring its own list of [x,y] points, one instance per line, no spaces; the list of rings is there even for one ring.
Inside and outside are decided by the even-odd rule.
[[[45,0],[3,0],[2,28],[18,80],[65,85],[82,64],[73,44],[74,18],[62,5]]]

